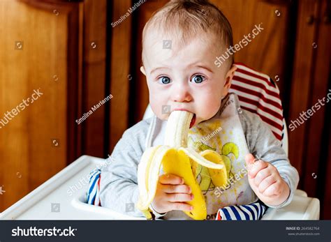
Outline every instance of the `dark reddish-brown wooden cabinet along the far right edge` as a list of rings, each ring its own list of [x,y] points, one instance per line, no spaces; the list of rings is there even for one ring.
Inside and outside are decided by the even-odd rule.
[[[297,128],[289,133],[289,158],[300,172],[300,188],[306,190],[309,196],[321,199],[321,217],[324,219],[331,219],[331,182],[328,178],[331,172],[331,149],[328,148],[328,99],[331,101],[330,15],[331,3],[328,0],[298,2],[288,112],[288,124],[307,119],[302,124],[295,123]],[[304,112],[308,115],[304,115]]]

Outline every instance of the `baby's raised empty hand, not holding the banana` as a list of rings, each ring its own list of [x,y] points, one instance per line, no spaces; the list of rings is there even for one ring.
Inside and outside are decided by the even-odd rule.
[[[262,202],[270,206],[278,206],[288,199],[290,188],[281,178],[276,167],[269,162],[254,162],[252,154],[245,157],[249,185]]]

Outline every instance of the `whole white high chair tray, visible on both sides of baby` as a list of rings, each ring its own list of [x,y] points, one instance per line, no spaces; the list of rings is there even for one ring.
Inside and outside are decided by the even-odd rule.
[[[100,206],[85,204],[88,183],[82,179],[105,160],[81,156],[58,174],[0,213],[1,220],[144,220]],[[68,194],[70,187],[82,188]],[[56,205],[54,205],[56,204]],[[57,208],[59,204],[59,208]],[[51,211],[53,207],[54,211]],[[282,209],[268,209],[263,220],[318,220],[319,200],[297,190],[293,202]]]

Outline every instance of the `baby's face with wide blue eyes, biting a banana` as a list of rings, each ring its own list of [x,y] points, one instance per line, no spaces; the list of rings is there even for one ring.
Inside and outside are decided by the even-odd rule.
[[[195,114],[193,126],[212,118],[228,93],[236,68],[217,67],[214,60],[220,51],[207,39],[195,38],[180,50],[175,50],[174,40],[172,49],[163,48],[163,39],[156,36],[145,41],[141,70],[147,77],[154,114],[167,120],[170,112],[187,110]]]

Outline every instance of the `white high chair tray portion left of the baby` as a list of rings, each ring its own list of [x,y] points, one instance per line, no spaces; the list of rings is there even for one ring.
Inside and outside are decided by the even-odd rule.
[[[30,192],[20,201],[0,213],[2,220],[133,220],[110,209],[85,204],[88,183],[80,182],[95,168],[101,167],[105,159],[92,156],[81,156],[71,165]],[[82,188],[68,194],[70,186]],[[59,212],[52,212],[52,204],[60,204]],[[141,218],[142,219],[142,218]]]

